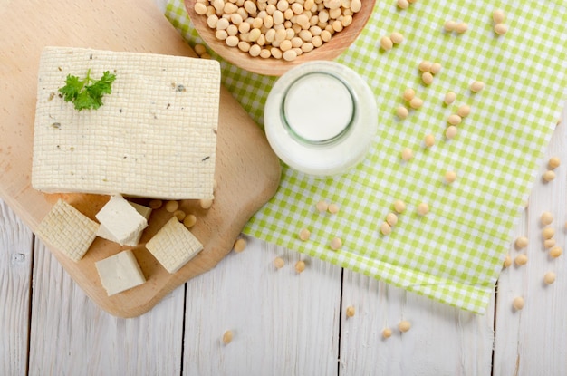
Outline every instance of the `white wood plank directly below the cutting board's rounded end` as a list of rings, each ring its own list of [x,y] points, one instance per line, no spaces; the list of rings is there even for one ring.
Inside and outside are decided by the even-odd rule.
[[[121,319],[101,310],[35,243],[31,375],[178,375],[183,286],[149,313]]]

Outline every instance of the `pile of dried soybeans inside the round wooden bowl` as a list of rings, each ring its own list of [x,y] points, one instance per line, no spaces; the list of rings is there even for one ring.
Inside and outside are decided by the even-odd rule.
[[[196,0],[216,40],[252,57],[292,62],[352,24],[361,0]]]

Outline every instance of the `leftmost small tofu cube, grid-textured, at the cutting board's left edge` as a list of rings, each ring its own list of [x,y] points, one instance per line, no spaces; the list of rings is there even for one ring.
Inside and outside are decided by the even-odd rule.
[[[59,199],[43,217],[35,234],[77,262],[91,247],[98,228],[98,223]]]

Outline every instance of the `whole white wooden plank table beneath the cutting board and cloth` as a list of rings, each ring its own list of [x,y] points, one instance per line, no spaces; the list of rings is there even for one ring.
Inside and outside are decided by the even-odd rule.
[[[156,1],[163,10],[165,0]],[[543,184],[552,155],[563,165]],[[514,231],[531,239],[529,262],[503,271],[482,316],[248,239],[243,253],[149,313],[119,319],[93,304],[0,201],[0,375],[567,375],[567,255],[546,255],[539,225],[551,211],[567,248],[565,165],[561,123]],[[510,255],[518,255],[512,245]],[[543,284],[548,271],[555,284]],[[518,295],[522,311],[512,308]],[[402,319],[412,323],[407,333],[397,330]],[[227,330],[234,340],[225,345]]]

